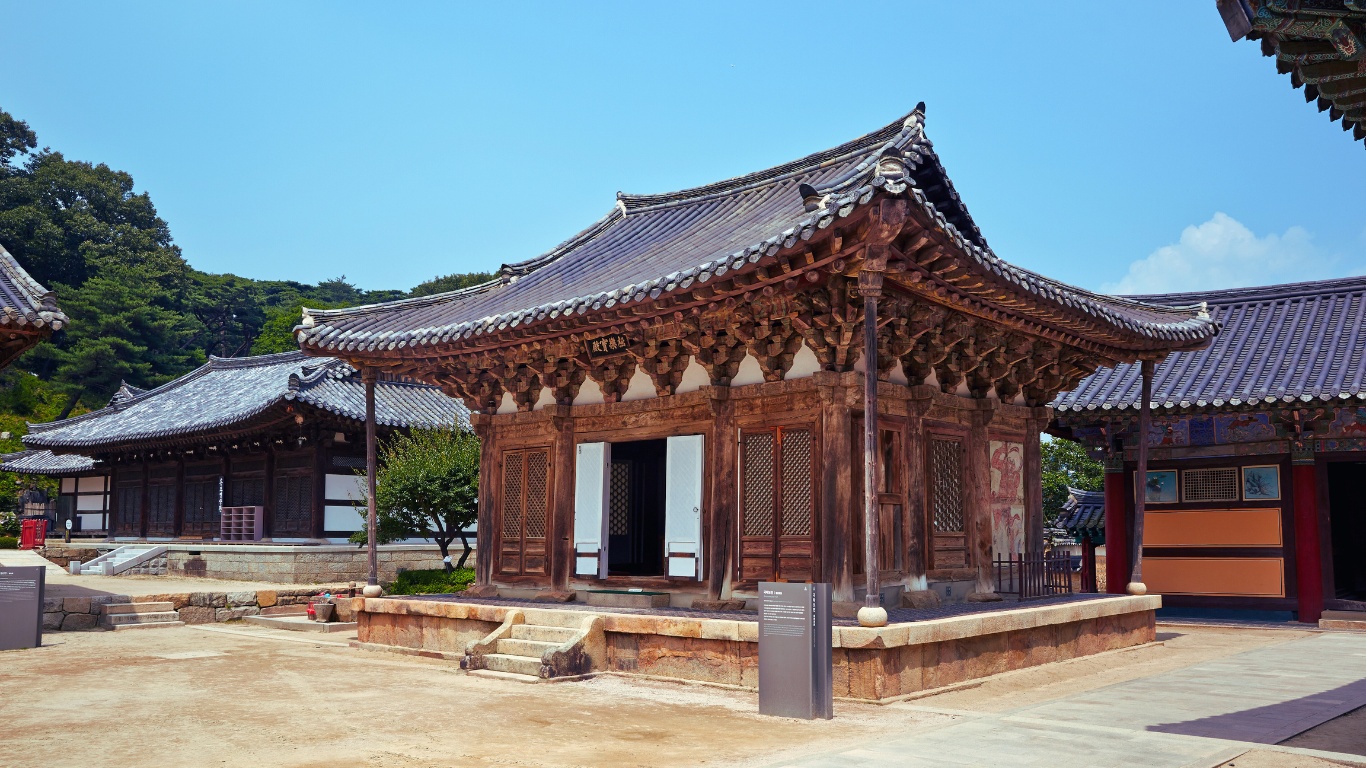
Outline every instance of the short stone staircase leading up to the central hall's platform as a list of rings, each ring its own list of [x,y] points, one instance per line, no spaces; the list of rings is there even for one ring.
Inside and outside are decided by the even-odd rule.
[[[529,608],[522,612],[523,623],[505,623],[494,633],[494,635],[501,637],[490,635],[478,644],[482,646],[482,652],[477,653],[477,664],[467,667],[469,672],[475,676],[522,683],[538,683],[555,678],[557,670],[546,664],[546,656],[557,650],[572,649],[581,644],[585,635],[585,620],[593,618],[593,614],[583,611]],[[467,652],[467,659],[470,656]]]

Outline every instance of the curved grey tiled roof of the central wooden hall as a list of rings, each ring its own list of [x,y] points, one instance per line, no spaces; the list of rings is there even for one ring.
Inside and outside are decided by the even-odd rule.
[[[887,172],[885,163],[900,164],[900,171],[893,168],[893,172]],[[811,190],[816,193],[814,197],[818,197],[814,209],[799,213],[790,212],[792,205],[800,202],[795,194],[796,190],[780,189],[781,184],[792,186],[798,178],[818,182]],[[947,194],[938,201],[932,201],[921,189],[930,184],[947,190]],[[578,292],[578,295],[561,298],[549,295],[552,291],[545,287],[546,283],[552,282],[555,284],[563,283],[564,272],[568,268],[557,265],[572,264],[572,260],[579,257],[581,250],[590,243],[607,241],[616,232],[617,227],[626,227],[632,217],[661,216],[656,228],[672,225],[683,232],[680,236],[687,236],[690,232],[713,225],[714,221],[703,217],[701,223],[679,224],[663,217],[673,216],[684,206],[697,209],[713,205],[713,201],[749,194],[759,187],[779,190],[788,197],[781,201],[784,208],[779,208],[777,204],[768,200],[751,201],[750,208],[764,202],[768,205],[765,210],[775,216],[770,223],[757,230],[751,227],[753,231],[758,232],[755,236],[766,235],[757,242],[732,243],[731,247],[735,245],[742,245],[742,247],[738,250],[728,247],[724,254],[698,249],[687,250],[688,256],[678,258],[695,260],[697,254],[701,253],[710,256],[710,260],[701,264],[693,261],[691,264],[661,265],[660,271],[669,266],[675,266],[675,269],[663,275],[656,272],[649,277],[641,276],[642,279],[624,282],[624,284],[617,282],[609,290],[578,292],[574,288],[563,288],[567,294]],[[305,309],[303,323],[295,328],[295,335],[301,347],[310,354],[337,354],[350,359],[361,359],[367,355],[419,350],[434,344],[463,340],[474,343],[473,340],[478,338],[510,328],[525,328],[529,324],[582,316],[628,303],[653,302],[665,295],[687,291],[694,284],[705,283],[728,271],[753,269],[761,260],[810,239],[817,231],[825,230],[837,219],[848,217],[856,208],[872,202],[876,195],[902,193],[912,200],[925,219],[944,232],[958,249],[970,256],[984,276],[1011,291],[1029,295],[1031,301],[1050,310],[1061,310],[1071,317],[1085,316],[1089,321],[1112,328],[1128,338],[1128,344],[1134,350],[1199,347],[1208,343],[1216,331],[1214,324],[1199,314],[1198,306],[1160,307],[1128,299],[1100,297],[1020,269],[999,258],[986,246],[975,223],[967,215],[966,206],[953,191],[952,182],[944,174],[943,165],[933,152],[933,145],[923,135],[923,105],[921,105],[903,120],[878,131],[768,171],[660,195],[619,195],[616,208],[583,232],[541,257],[515,265],[504,265],[497,279],[482,286],[361,307]],[[769,200],[772,198],[773,194],[769,195]],[[796,209],[800,208],[796,206]],[[788,213],[776,213],[780,210],[788,210]],[[723,215],[728,217],[724,219],[728,223],[735,217],[743,219],[749,212],[728,209],[717,213],[717,216]],[[687,230],[688,225],[693,230]],[[673,241],[661,247],[678,241],[679,236],[675,236]],[[720,245],[720,242],[714,234],[708,241],[713,246]],[[624,245],[626,247],[639,247],[638,243],[631,242]],[[604,251],[582,258],[597,258],[598,264],[594,266],[600,266],[601,260],[611,257],[612,251]],[[643,260],[632,260],[632,262],[637,261]],[[522,292],[519,283],[544,277],[544,272],[548,269],[559,271],[556,275],[540,280],[533,288],[538,290],[538,294],[527,297],[525,302],[512,298]],[[605,279],[609,277],[600,277],[600,283]],[[500,302],[500,298],[507,301]],[[550,298],[555,301],[541,301]],[[485,313],[485,310],[488,312]]]

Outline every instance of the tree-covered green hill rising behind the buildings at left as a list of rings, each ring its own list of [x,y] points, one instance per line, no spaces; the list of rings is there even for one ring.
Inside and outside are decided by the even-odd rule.
[[[367,291],[346,276],[306,284],[199,272],[171,239],[152,197],[134,191],[131,175],[38,149],[33,130],[3,109],[0,245],[57,292],[71,318],[51,343],[15,364],[37,383],[15,376],[0,380],[0,391],[25,383],[23,398],[10,398],[16,403],[60,402],[56,413],[33,410],[46,418],[101,407],[119,381],[164,384],[210,354],[298,348],[291,329],[302,306],[331,309],[430,295],[492,277],[458,273],[411,291]],[[5,404],[0,395],[0,414],[14,413]]]

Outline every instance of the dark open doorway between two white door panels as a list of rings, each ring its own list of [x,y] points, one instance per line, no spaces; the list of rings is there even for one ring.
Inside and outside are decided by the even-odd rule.
[[[612,443],[608,575],[664,575],[664,459],[668,443]]]

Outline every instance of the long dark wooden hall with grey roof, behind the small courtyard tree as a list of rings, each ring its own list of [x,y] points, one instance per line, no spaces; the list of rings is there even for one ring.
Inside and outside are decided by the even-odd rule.
[[[30,424],[0,469],[60,477],[59,512],[117,540],[318,543],[363,527],[366,389],[378,439],[464,425],[429,384],[363,377],[340,359],[281,353],[216,358],[156,389]],[[240,530],[225,534],[224,517]]]

